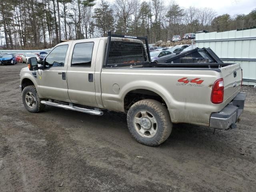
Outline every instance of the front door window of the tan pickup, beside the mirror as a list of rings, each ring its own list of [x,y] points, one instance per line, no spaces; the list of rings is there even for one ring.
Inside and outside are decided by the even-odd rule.
[[[64,67],[68,45],[60,45],[45,58],[45,68]]]

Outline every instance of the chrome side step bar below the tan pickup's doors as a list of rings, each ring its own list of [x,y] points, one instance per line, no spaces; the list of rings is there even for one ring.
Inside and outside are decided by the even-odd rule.
[[[92,110],[92,109],[76,107],[76,106],[72,106],[71,103],[70,103],[70,105],[64,105],[64,104],[58,104],[58,103],[44,101],[44,100],[42,100],[41,103],[44,105],[50,105],[50,106],[69,109],[69,110],[73,110],[73,111],[79,111],[79,112],[88,113],[88,114],[92,114],[92,115],[103,115],[103,112],[100,110]]]

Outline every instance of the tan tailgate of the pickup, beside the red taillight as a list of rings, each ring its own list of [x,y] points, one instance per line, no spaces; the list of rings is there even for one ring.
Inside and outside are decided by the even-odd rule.
[[[229,102],[233,99],[241,89],[242,84],[242,68],[240,64],[232,64],[220,68],[222,78],[224,80],[224,100]]]

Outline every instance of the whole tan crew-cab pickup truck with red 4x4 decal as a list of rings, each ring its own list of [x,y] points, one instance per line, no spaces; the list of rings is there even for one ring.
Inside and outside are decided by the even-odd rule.
[[[172,123],[234,128],[246,98],[241,84],[240,64],[156,64],[146,37],[115,34],[60,43],[41,62],[29,58],[20,72],[29,112],[46,105],[124,112],[131,134],[149,146],[164,142]]]

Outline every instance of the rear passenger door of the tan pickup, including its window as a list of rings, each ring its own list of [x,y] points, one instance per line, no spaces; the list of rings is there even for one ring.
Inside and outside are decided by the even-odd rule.
[[[99,42],[99,39],[81,40],[72,44],[67,71],[68,95],[72,103],[98,106],[94,74]]]

